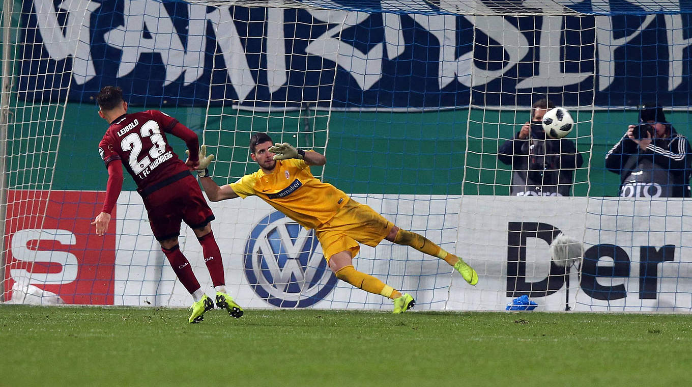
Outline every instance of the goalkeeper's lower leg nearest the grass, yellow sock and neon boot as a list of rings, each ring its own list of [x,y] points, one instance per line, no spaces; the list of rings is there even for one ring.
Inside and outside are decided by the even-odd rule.
[[[372,294],[381,294],[392,300],[394,302],[393,313],[399,314],[406,312],[416,305],[415,300],[410,294],[402,294],[401,291],[386,285],[378,278],[357,271],[353,266],[353,257],[350,251],[340,251],[339,253],[331,255],[328,262],[329,268],[334,271],[336,278],[348,282],[358,289],[363,289]]]

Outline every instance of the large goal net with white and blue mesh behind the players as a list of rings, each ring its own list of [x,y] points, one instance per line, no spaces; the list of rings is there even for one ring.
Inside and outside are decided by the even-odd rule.
[[[471,287],[410,247],[361,246],[356,269],[417,309],[520,296],[539,310],[692,309],[689,199],[645,184],[648,197],[619,197],[605,163],[641,105],[685,134],[691,24],[677,4],[5,0],[2,23],[4,301],[189,305],[129,177],[109,233],[90,225],[107,179],[93,96],[116,85],[131,111],[197,132],[219,185],[258,169],[248,142],[266,133],[325,154],[316,177],[478,271]],[[531,121],[553,105],[574,125],[545,140]],[[210,205],[240,305],[390,309],[336,280],[314,232],[264,201]],[[210,291],[185,225],[180,246]]]

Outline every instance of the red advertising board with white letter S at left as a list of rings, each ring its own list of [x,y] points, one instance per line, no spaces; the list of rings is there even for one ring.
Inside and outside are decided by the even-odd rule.
[[[66,304],[113,304],[116,211],[107,235],[95,235],[90,224],[104,197],[93,191],[8,191],[5,300],[18,282]]]

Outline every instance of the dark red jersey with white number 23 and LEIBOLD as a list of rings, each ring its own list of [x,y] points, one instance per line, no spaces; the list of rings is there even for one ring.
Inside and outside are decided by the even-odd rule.
[[[158,110],[123,114],[108,127],[98,152],[106,168],[111,161],[122,160],[140,193],[155,190],[190,174],[166,140],[165,134],[177,123]]]

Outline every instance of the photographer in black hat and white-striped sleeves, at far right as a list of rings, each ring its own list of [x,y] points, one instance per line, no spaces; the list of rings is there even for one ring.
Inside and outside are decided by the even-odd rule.
[[[639,125],[605,155],[605,168],[620,175],[620,197],[690,197],[689,142],[668,123],[663,108],[646,104]]]

